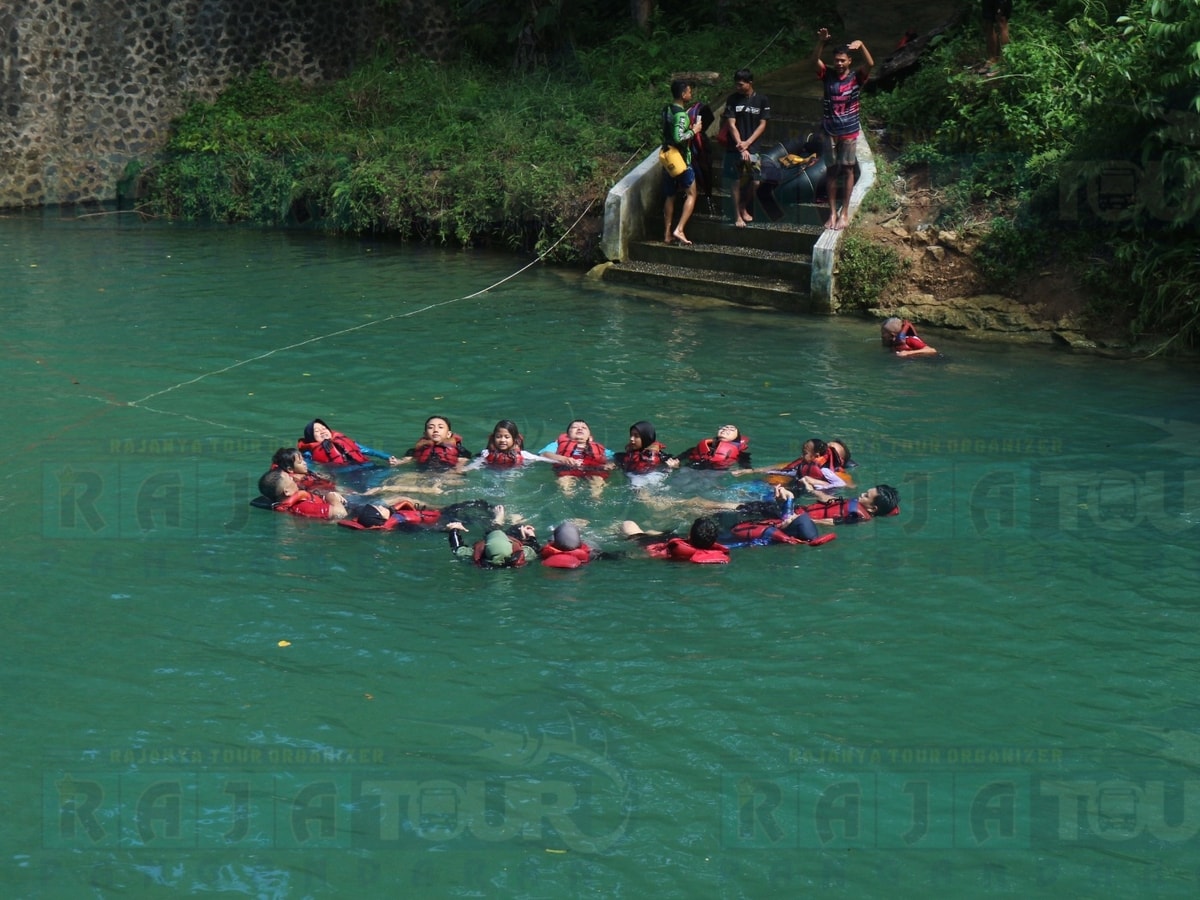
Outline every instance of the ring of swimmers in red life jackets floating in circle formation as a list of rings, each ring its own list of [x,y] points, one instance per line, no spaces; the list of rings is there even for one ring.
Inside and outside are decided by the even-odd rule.
[[[503,505],[476,499],[432,508],[410,497],[396,496],[395,485],[378,484],[380,474],[403,466],[431,473],[464,473],[472,469],[515,469],[548,463],[558,485],[572,494],[587,485],[593,497],[604,491],[610,475],[620,470],[634,487],[650,487],[680,467],[728,470],[732,475],[758,475],[769,486],[764,499],[719,503],[696,498],[683,505],[698,506],[686,535],[646,532],[636,522],[622,522],[617,533],[637,553],[659,559],[692,563],[728,563],[730,551],[767,544],[816,546],[834,539],[817,527],[865,522],[900,511],[899,492],[877,485],[844,497],[852,488],[848,469],[854,466],[845,442],[811,438],[798,458],[781,466],[756,469],[750,463],[750,440],[734,425],[722,425],[688,451],[673,456],[658,439],[654,425],[637,421],[629,442],[613,452],[595,440],[582,419],[538,452],[526,450],[516,422],[502,419],[492,428],[487,446],[478,455],[463,445],[450,420],[431,415],[421,438],[403,455],[395,456],[365,446],[334,431],[322,419],[305,426],[294,448],[280,448],[271,467],[259,479],[262,497],[253,504],[294,516],[336,521],[359,530],[438,529],[449,536],[455,556],[482,568],[510,568],[540,560],[544,565],[574,569],[594,559],[629,556],[629,551],[601,551],[584,542],[580,527],[564,521],[545,542],[535,528],[521,521],[506,522]],[[436,491],[440,492],[440,491]],[[797,496],[808,494],[809,503]],[[467,544],[470,526],[482,526],[484,538]]]

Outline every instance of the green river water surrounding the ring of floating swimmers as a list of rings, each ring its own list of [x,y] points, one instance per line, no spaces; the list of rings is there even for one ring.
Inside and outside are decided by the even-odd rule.
[[[1194,896],[1196,371],[646,299],[511,257],[0,221],[4,811],[19,898]],[[575,416],[898,517],[732,564],[484,571],[252,509],[313,416],[403,452]],[[445,502],[685,524],[614,476]],[[672,475],[665,497],[754,496]],[[434,498],[442,503],[443,499]]]

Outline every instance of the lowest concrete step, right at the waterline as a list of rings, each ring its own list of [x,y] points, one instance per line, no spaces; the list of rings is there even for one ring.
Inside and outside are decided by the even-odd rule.
[[[684,252],[680,250],[680,253]],[[749,275],[719,275],[679,265],[626,260],[613,263],[604,272],[613,284],[654,288],[670,294],[715,296],[731,304],[767,306],[787,312],[809,312],[808,281],[755,277]]]

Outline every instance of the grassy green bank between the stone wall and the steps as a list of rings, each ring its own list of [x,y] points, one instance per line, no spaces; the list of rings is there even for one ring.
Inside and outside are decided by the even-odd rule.
[[[656,143],[672,73],[720,73],[703,89],[719,103],[733,71],[751,59],[782,65],[798,36],[798,25],[748,24],[742,17],[761,8],[749,4],[725,4],[710,24],[660,4],[644,30],[596,10],[571,28],[517,17],[504,41],[505,29],[480,22],[503,6],[460,4],[474,18],[454,60],[384,52],[312,86],[259,70],[197,103],[149,174],[156,205],[184,218],[553,246],[558,262],[590,263],[604,197]]]

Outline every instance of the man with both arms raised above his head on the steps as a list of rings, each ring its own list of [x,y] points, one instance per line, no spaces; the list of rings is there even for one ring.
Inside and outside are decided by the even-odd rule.
[[[858,118],[858,97],[871,74],[875,60],[862,41],[842,44],[833,52],[833,67],[821,60],[829,29],[817,31],[817,46],[812,50],[812,62],[817,78],[824,85],[824,116],[821,130],[824,138],[826,185],[829,192],[829,218],[826,228],[845,228],[850,224],[850,196],[854,192],[854,169],[858,166],[856,143],[862,130]],[[863,52],[863,65],[851,72],[850,54]],[[846,176],[845,203],[838,211],[838,178]]]

